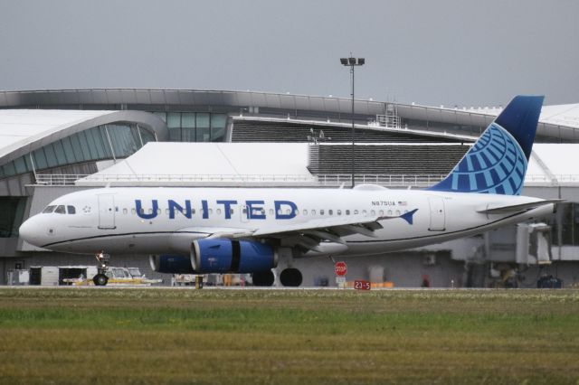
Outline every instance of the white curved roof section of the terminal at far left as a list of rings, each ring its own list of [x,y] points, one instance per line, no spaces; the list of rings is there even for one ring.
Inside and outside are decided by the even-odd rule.
[[[165,122],[143,111],[0,109],[0,164],[62,137],[114,122],[136,123],[166,140]]]

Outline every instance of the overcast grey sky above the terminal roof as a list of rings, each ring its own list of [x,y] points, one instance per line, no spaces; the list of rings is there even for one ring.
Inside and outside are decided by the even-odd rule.
[[[579,103],[576,0],[0,0],[0,89],[235,89]]]

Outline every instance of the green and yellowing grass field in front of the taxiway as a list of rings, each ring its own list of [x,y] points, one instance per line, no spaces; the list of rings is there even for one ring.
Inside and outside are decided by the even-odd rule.
[[[4,288],[0,382],[579,384],[579,291]]]

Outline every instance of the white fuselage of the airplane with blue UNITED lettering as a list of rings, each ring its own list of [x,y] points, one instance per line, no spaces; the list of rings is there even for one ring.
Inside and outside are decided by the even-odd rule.
[[[73,192],[51,203],[75,213],[41,213],[21,236],[35,246],[74,253],[188,255],[191,242],[239,230],[279,228],[335,217],[380,220],[375,236],[344,237],[350,255],[372,255],[496,229],[543,217],[552,204],[527,211],[479,213],[489,204],[536,198],[387,189],[104,188]],[[413,211],[412,224],[400,216]],[[190,218],[189,218],[190,217]]]

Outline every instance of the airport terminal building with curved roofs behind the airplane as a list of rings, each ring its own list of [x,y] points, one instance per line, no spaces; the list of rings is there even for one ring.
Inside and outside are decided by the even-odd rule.
[[[64,193],[106,185],[421,188],[447,174],[501,107],[427,107],[249,91],[62,89],[0,92],[0,283],[92,256],[37,249],[20,224]],[[348,279],[394,286],[579,282],[579,104],[545,106],[523,194],[565,199],[552,218],[380,257],[346,258]],[[544,245],[547,245],[544,247]],[[95,252],[98,250],[95,250]],[[147,256],[113,265],[156,275]],[[330,258],[301,259],[305,286],[333,286]],[[165,277],[166,278],[166,277]]]

